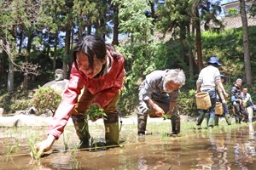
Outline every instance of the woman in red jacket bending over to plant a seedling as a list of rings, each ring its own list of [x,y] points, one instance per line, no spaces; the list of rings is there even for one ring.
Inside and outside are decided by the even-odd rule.
[[[87,36],[78,42],[73,51],[70,80],[47,139],[35,144],[38,153],[51,148],[59,139],[69,117],[72,117],[80,148],[89,147],[90,133],[84,119],[90,105],[100,105],[108,115],[104,119],[106,144],[119,144],[119,115],[116,103],[121,95],[125,69],[124,58],[102,37]],[[81,95],[80,95],[81,94]]]

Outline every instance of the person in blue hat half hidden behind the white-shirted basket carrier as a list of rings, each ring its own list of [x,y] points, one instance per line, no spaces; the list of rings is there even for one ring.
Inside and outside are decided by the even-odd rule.
[[[221,80],[222,84],[224,84],[226,82],[226,77],[224,77],[224,75],[220,75],[220,80]],[[217,86],[216,102],[222,103],[223,110],[224,110],[224,118],[225,118],[227,124],[231,125],[229,108],[228,108],[228,105],[226,104],[226,99],[224,97],[224,94],[218,86]],[[215,126],[218,126],[219,117],[220,116],[215,115]]]

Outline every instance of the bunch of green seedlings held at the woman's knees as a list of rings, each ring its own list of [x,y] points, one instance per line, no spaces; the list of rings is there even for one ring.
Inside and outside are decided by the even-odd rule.
[[[91,121],[96,121],[97,118],[106,117],[106,113],[102,108],[99,108],[97,105],[90,105],[90,108],[86,111],[88,119]]]

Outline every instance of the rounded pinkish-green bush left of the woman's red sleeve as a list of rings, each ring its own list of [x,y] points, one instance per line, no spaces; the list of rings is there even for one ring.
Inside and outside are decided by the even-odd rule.
[[[54,88],[38,87],[36,93],[33,94],[32,103],[39,112],[48,109],[55,114],[55,111],[61,104],[61,93],[56,91]]]

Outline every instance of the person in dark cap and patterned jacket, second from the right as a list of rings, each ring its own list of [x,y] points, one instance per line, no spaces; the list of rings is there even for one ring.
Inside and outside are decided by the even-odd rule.
[[[248,120],[247,111],[242,105],[241,84],[242,84],[241,78],[237,78],[233,88],[231,89],[231,102],[235,109],[236,123],[241,123],[242,119],[244,119],[245,122],[247,122]]]

